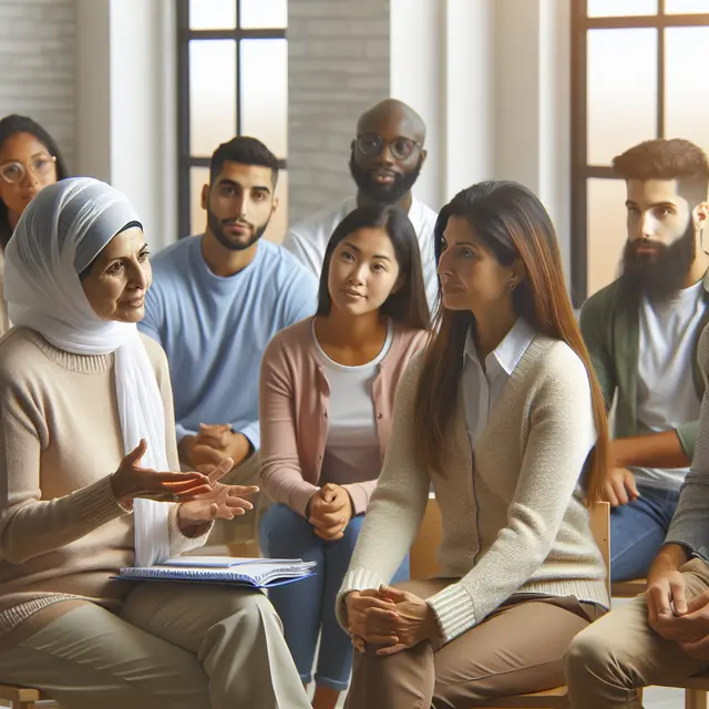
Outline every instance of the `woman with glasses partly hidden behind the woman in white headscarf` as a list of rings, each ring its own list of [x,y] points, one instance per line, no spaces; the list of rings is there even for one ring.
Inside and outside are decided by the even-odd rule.
[[[17,114],[0,120],[0,292],[4,249],[24,208],[42,187],[68,176],[54,138],[39,123]],[[0,335],[9,325],[0,299]]]

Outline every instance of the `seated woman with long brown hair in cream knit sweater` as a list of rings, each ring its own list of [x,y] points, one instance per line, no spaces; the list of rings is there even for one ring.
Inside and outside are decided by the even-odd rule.
[[[408,368],[337,613],[359,650],[350,709],[466,709],[564,682],[563,657],[608,607],[586,502],[605,405],[554,227],[511,182],[441,210],[439,331]],[[441,510],[440,576],[387,586]]]

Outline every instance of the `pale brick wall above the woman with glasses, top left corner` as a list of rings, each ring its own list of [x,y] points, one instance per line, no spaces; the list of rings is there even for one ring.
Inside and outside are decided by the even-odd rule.
[[[0,0],[0,116],[29,115],[74,165],[74,0]]]

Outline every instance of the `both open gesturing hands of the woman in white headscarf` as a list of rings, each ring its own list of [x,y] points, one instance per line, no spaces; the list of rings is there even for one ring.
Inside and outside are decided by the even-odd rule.
[[[254,505],[243,497],[258,492],[258,487],[219,482],[234,466],[232,459],[222,460],[207,474],[158,472],[140,466],[146,450],[147,443],[142,440],[111,475],[113,494],[123,506],[132,506],[136,497],[182,503],[179,522],[185,525],[199,525],[216,518],[232,520],[253,510]]]

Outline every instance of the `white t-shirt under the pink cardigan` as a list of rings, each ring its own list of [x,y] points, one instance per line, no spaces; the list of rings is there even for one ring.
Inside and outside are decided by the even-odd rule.
[[[377,378],[379,363],[391,347],[393,332],[390,320],[387,339],[379,354],[366,364],[347,367],[325,353],[315,335],[314,319],[312,340],[330,386],[329,429],[320,485],[360,483],[379,476],[381,459],[372,382]]]

